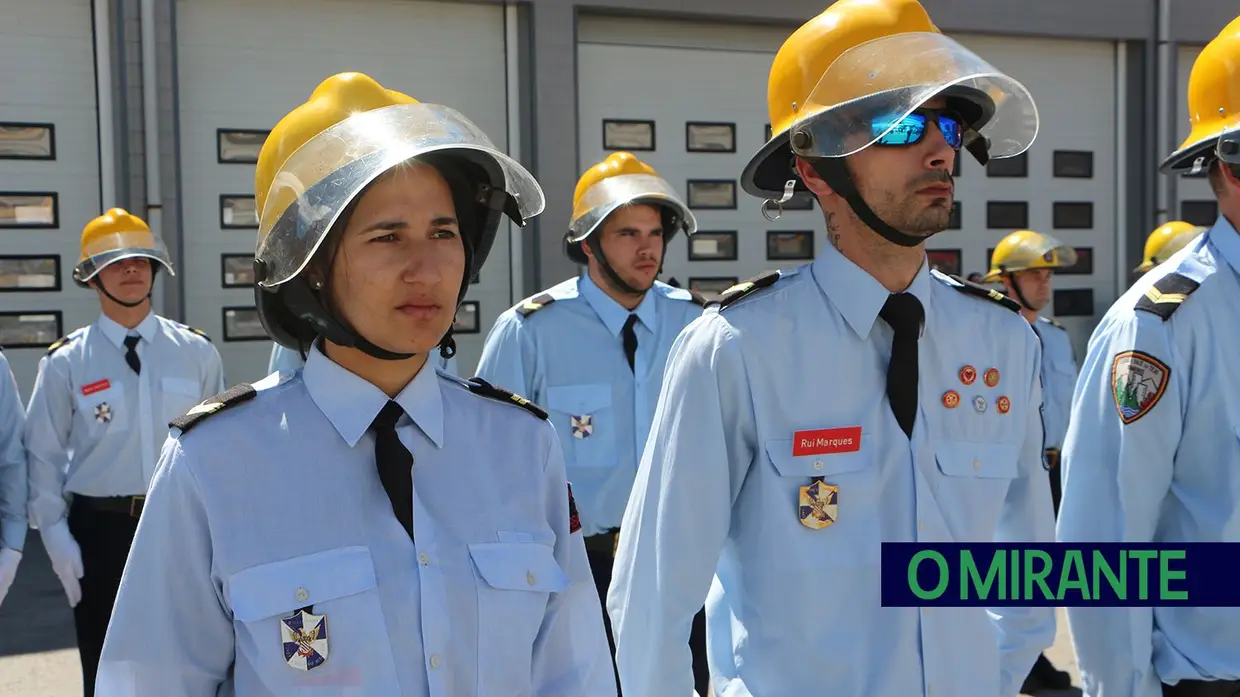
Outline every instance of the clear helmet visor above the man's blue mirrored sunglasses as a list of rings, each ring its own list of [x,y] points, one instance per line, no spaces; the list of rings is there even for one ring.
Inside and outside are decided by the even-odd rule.
[[[1038,135],[1038,109],[1023,84],[947,36],[910,32],[836,58],[799,107],[805,115],[792,124],[792,150],[805,158],[852,155],[941,95],[959,95],[978,104],[977,114],[990,114],[977,130],[992,159],[1024,153]],[[966,125],[978,125],[962,115]]]

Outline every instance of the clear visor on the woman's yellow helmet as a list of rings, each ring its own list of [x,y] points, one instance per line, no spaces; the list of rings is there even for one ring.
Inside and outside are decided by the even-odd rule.
[[[440,104],[397,104],[360,112],[315,135],[277,172],[259,216],[255,257],[263,286],[296,277],[343,210],[383,172],[420,155],[464,151],[494,166],[492,181],[511,197],[523,224],[543,211],[543,191],[525,167],[476,125]]]

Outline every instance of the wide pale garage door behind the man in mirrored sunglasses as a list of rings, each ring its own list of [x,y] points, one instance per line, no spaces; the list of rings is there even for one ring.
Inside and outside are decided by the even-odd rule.
[[[790,30],[583,16],[578,26],[579,165],[629,149],[689,197],[699,232],[667,252],[663,278],[703,291],[812,258],[823,243],[816,207],[766,221],[738,177],[766,135],[766,77]],[[934,238],[954,273],[982,272],[988,251],[1022,227],[1081,251],[1048,309],[1084,351],[1116,296],[1116,46],[1110,42],[959,36],[1021,79],[1042,115],[1038,140],[983,170],[963,159],[959,227]],[[1053,310],[1053,313],[1050,311]]]

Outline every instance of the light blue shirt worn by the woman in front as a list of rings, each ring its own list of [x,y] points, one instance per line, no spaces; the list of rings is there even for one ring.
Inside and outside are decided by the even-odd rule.
[[[254,388],[164,446],[100,697],[615,696],[547,422],[419,372],[396,397],[413,541],[374,464],[386,394],[317,348]],[[303,608],[326,618],[312,670],[281,640]]]

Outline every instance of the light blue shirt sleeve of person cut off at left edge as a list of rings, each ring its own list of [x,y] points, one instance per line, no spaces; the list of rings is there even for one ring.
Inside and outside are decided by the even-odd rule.
[[[26,543],[26,409],[9,360],[0,353],[0,548],[17,552]]]

